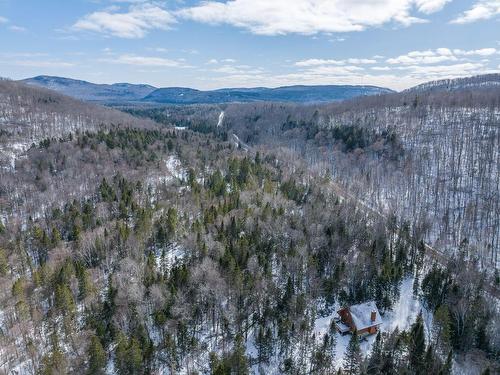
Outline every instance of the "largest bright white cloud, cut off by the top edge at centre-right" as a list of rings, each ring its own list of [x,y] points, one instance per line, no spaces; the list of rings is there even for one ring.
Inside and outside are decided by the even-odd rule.
[[[361,31],[396,22],[404,26],[425,20],[414,9],[429,14],[448,0],[229,0],[205,1],[176,12],[180,17],[208,24],[230,24],[255,34],[316,34]]]

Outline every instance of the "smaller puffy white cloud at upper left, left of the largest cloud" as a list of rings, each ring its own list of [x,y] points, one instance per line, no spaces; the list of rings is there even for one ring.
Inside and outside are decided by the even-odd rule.
[[[153,29],[167,30],[174,24],[170,12],[152,3],[131,5],[126,12],[118,7],[94,12],[78,20],[73,29],[92,31],[120,38],[142,38]]]

